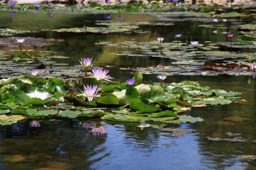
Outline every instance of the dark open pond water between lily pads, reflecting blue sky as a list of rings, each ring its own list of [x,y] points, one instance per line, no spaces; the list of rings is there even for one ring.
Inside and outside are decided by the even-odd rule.
[[[111,14],[117,20],[118,14]],[[131,77],[120,67],[147,67],[151,65],[169,65],[170,59],[151,57],[120,57],[108,53],[123,51],[119,48],[96,46],[95,42],[123,42],[134,40],[146,42],[163,36],[166,42],[173,40],[174,34],[183,33],[187,36],[183,42],[199,40],[204,42],[212,39],[209,28],[197,27],[200,22],[175,22],[175,26],[145,26],[147,34],[75,34],[40,31],[41,29],[71,28],[84,26],[85,20],[103,20],[103,14],[27,14],[0,12],[0,28],[38,31],[31,34],[20,34],[20,37],[43,37],[65,40],[58,45],[28,49],[55,51],[58,55],[70,57],[59,62],[78,64],[79,57],[93,57],[96,66],[116,66],[111,68],[110,75],[125,80]],[[156,19],[147,15],[122,14],[122,21],[151,21]],[[189,34],[188,34],[189,32]],[[230,30],[237,35],[236,30]],[[218,41],[226,41],[218,35]],[[0,47],[2,50],[14,49]],[[228,50],[228,49],[223,49]],[[239,49],[246,51],[246,49]],[[250,80],[249,80],[250,79]],[[144,81],[157,82],[154,75],[145,75]],[[242,92],[243,104],[207,106],[192,108],[187,114],[199,116],[204,122],[190,125],[168,125],[192,129],[184,136],[175,136],[157,128],[147,127],[143,130],[140,123],[102,122],[102,120],[55,120],[54,118],[39,119],[41,127],[31,127],[30,122],[19,122],[15,125],[0,127],[0,169],[1,170],[34,170],[48,167],[49,170],[253,170],[256,161],[244,161],[238,155],[256,155],[256,80],[244,76],[173,76],[168,82],[182,80],[198,81],[201,85],[220,88],[226,91]],[[250,81],[250,83],[248,83]],[[248,122],[233,125],[219,125],[227,116],[249,118]],[[94,136],[91,132],[94,125],[105,127],[108,134]],[[157,125],[156,125],[157,126]],[[232,139],[227,133],[239,133],[242,142],[212,141],[207,137]],[[21,155],[23,161],[12,163],[4,159],[7,156]],[[58,169],[53,169],[58,168]],[[44,170],[44,169],[42,169]],[[45,169],[46,170],[46,169]],[[48,170],[48,169],[47,169]]]

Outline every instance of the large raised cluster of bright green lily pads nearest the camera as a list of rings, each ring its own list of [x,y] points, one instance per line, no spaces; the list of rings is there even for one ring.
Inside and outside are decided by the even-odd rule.
[[[0,80],[0,125],[26,117],[55,116],[115,122],[200,122],[186,116],[193,105],[226,105],[241,93],[210,90],[198,82],[183,81],[161,85],[143,84],[142,74],[134,73],[136,83],[99,83],[82,77],[68,81],[58,78],[21,76]],[[79,94],[81,86],[99,85],[98,97],[90,101]],[[19,116],[22,115],[22,116]]]

